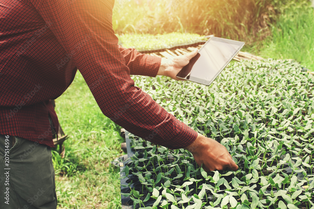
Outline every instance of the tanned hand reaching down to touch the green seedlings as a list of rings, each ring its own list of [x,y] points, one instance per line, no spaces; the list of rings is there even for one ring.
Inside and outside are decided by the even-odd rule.
[[[200,133],[196,140],[185,149],[193,154],[197,164],[203,165],[203,169],[207,172],[228,169],[236,171],[239,168],[222,144]]]

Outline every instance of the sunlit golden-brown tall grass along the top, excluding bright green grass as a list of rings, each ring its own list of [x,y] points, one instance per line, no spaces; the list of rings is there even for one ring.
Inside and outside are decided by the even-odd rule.
[[[273,1],[159,0],[116,1],[113,28],[117,34],[197,33],[236,40],[269,34]],[[252,36],[253,35],[253,36]]]

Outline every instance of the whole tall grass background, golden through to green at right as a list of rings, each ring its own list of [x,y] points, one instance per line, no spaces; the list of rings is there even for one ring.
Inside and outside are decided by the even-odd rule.
[[[116,0],[113,28],[122,42],[123,34],[214,34],[244,41],[246,51],[295,59],[314,70],[311,4],[310,0]],[[133,42],[127,45],[141,45],[140,40]]]

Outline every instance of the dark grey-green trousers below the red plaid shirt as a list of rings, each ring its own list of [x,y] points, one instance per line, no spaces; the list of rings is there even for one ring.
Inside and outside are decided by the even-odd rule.
[[[0,135],[0,209],[57,208],[51,156],[46,145]]]

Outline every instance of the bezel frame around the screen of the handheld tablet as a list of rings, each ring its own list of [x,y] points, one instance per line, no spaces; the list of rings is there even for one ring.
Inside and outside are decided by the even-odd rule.
[[[230,40],[230,39],[224,39],[224,38],[219,38],[219,37],[211,37],[210,39],[208,39],[206,41],[206,43],[198,50],[198,53],[201,54],[200,52],[206,47],[206,45],[210,42],[210,41],[218,41],[218,42],[224,42],[224,43],[228,43],[228,44],[235,44],[235,45],[239,45],[239,48],[235,51],[234,54],[232,54],[230,56],[230,58],[225,62],[225,64],[223,65],[223,67],[221,69],[219,69],[219,71],[217,71],[217,73],[215,74],[215,76],[211,79],[211,80],[204,80],[201,78],[197,78],[197,77],[192,77],[187,75],[185,78],[182,78],[180,76],[178,76],[181,71],[177,74],[177,78],[181,78],[184,79],[186,81],[193,81],[199,84],[203,84],[206,86],[209,86],[210,84],[212,84],[212,82],[217,78],[217,76],[221,73],[221,71],[223,71],[225,69],[225,67],[230,63],[230,61],[236,56],[236,54],[242,49],[242,47],[244,46],[244,42],[241,41],[235,41],[235,40]],[[197,61],[196,61],[197,62]],[[188,64],[189,65],[189,64]],[[193,70],[193,69],[192,69]],[[191,71],[192,71],[191,70]]]

